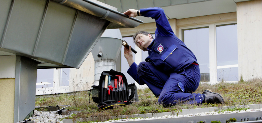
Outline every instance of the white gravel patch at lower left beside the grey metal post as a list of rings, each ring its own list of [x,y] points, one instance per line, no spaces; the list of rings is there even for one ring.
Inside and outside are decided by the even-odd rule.
[[[44,111],[34,110],[34,113],[35,113],[34,117],[36,116],[40,116],[40,117],[33,118],[33,119],[32,117],[30,117],[29,119],[34,120],[35,123],[62,123],[63,118],[70,116],[70,115],[59,115],[59,114],[51,113],[51,112],[53,111],[44,112]],[[48,113],[51,113],[51,114],[48,114]],[[44,114],[47,114],[47,115],[44,115]],[[44,116],[41,116],[41,115],[44,115]]]

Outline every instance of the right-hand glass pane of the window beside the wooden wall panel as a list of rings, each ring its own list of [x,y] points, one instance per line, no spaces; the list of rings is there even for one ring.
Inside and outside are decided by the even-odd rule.
[[[217,25],[217,81],[238,81],[237,26]]]

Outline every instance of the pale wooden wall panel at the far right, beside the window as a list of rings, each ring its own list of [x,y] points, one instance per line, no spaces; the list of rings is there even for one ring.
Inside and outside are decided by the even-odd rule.
[[[239,78],[262,77],[262,9],[261,0],[238,2],[237,39]]]

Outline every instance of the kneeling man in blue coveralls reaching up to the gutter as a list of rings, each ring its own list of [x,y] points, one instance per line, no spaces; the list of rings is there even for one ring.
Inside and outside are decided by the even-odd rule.
[[[162,8],[129,9],[124,14],[151,17],[156,21],[155,39],[145,31],[133,35],[136,46],[148,51],[145,62],[139,65],[134,62],[131,46],[125,47],[124,56],[129,64],[127,73],[140,85],[148,85],[159,97],[160,104],[224,103],[224,98],[211,90],[205,90],[203,94],[193,93],[200,82],[199,65],[193,52],[175,36]]]

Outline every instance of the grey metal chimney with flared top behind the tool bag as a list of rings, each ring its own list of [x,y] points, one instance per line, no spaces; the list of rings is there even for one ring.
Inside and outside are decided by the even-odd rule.
[[[94,85],[99,84],[103,71],[116,70],[116,60],[121,51],[122,35],[119,29],[107,29],[92,49],[95,60]]]

